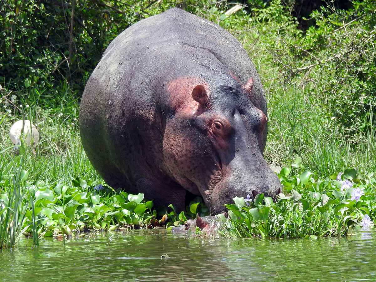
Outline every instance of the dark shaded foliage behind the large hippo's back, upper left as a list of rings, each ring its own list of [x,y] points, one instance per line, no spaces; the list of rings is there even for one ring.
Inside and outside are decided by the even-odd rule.
[[[20,90],[30,86],[50,88],[67,80],[74,90],[82,92],[103,51],[121,31],[171,6],[193,13],[199,7],[190,0],[130,3],[116,0],[2,1],[0,83]]]

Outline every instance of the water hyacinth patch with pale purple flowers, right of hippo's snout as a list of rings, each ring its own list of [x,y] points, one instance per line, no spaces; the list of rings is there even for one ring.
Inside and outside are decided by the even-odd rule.
[[[294,175],[291,172],[294,169]],[[342,180],[342,178],[344,180]],[[279,174],[286,190],[273,202],[259,194],[254,202],[235,197],[229,209],[226,237],[323,237],[348,235],[352,226],[367,230],[376,215],[376,179],[353,169],[318,179],[298,160]]]

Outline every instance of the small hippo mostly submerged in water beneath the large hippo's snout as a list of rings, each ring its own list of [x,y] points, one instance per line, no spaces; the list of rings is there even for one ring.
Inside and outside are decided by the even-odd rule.
[[[219,217],[212,215],[200,217],[197,214],[195,219],[188,219],[184,225],[172,227],[171,232],[196,234],[196,227],[207,237],[218,236],[218,230],[224,229],[224,223]]]

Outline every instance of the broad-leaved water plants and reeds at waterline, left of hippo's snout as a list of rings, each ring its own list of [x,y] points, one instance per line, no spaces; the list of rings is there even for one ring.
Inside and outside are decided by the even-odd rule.
[[[186,217],[208,212],[199,197],[187,212],[177,213],[172,205],[170,211],[167,207],[153,209],[153,202],[144,201],[142,193],[132,195],[103,185],[92,186],[91,180],[78,177],[70,183],[29,181],[23,158],[17,159],[20,167],[15,169],[14,163],[6,166],[3,162],[0,175],[0,187],[8,187],[0,196],[0,249],[17,246],[23,235],[32,235],[37,245],[39,236],[71,237],[81,236],[81,232],[84,236],[89,230],[178,225]]]

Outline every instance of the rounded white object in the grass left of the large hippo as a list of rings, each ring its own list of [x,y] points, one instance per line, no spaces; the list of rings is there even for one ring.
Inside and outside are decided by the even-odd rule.
[[[9,136],[12,143],[17,146],[21,145],[21,139],[30,147],[35,147],[39,141],[39,132],[29,120],[16,121],[9,131]]]

